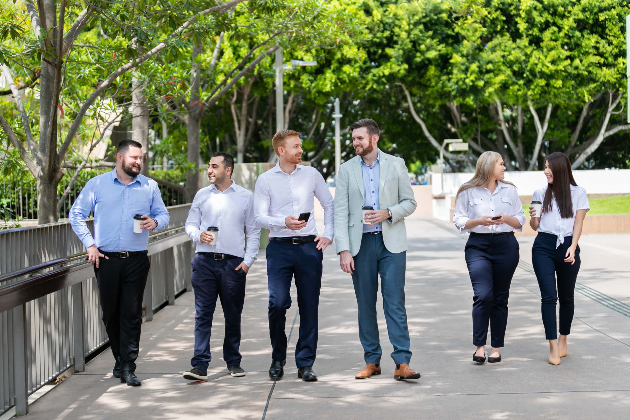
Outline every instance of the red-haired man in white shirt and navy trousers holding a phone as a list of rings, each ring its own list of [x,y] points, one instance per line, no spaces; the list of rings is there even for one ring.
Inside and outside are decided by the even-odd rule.
[[[270,242],[266,249],[269,334],[273,348],[269,377],[277,380],[284,375],[286,314],[291,307],[289,292],[295,276],[300,313],[295,364],[297,377],[311,382],[317,380],[312,365],[318,341],[323,251],[332,243],[334,234],[333,196],[316,169],[299,165],[303,153],[299,134],[293,130],[281,130],[273,136],[273,150],[280,161],[258,177],[254,208],[256,225],[270,230]],[[322,236],[318,236],[312,214],[313,197],[317,197],[324,208]],[[299,220],[301,213],[309,213],[307,220]]]

